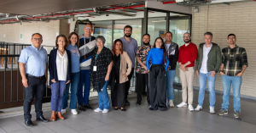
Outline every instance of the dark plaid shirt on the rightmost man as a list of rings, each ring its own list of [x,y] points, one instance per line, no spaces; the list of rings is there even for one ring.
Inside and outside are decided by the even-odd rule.
[[[236,76],[241,73],[244,65],[247,63],[247,52],[243,47],[230,48],[225,47],[222,49],[222,64],[224,64],[223,72],[225,75]]]

